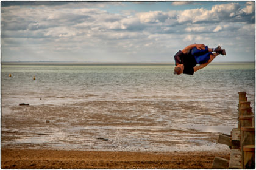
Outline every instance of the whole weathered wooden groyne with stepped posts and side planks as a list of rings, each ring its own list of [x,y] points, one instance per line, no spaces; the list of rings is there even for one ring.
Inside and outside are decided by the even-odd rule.
[[[218,138],[218,143],[230,147],[230,159],[215,157],[213,169],[255,169],[255,115],[246,92],[238,95],[238,127]]]

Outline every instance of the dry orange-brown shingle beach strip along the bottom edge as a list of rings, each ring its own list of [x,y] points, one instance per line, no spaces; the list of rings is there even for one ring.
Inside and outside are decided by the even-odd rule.
[[[3,169],[210,169],[226,152],[109,152],[1,149]]]

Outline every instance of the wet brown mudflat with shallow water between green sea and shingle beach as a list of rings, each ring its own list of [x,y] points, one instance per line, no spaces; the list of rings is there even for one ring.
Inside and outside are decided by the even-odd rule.
[[[218,132],[232,129],[224,125],[232,123],[230,117],[220,120],[220,113],[213,110],[196,112],[200,102],[190,104],[180,108],[174,101],[88,101],[3,107],[2,146],[152,152],[228,149],[216,140]]]

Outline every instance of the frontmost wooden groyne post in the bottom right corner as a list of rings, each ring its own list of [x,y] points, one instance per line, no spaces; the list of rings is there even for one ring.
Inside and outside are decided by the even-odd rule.
[[[244,150],[244,166],[246,169],[255,169],[255,145],[246,145]]]

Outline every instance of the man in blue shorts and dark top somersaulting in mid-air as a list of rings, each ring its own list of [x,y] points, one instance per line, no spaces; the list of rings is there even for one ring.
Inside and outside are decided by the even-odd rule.
[[[213,53],[215,52],[215,53]],[[180,75],[181,73],[193,75],[199,69],[204,68],[217,55],[226,55],[225,49],[220,46],[216,48],[208,48],[204,44],[191,44],[183,50],[174,55],[175,65],[174,74]],[[196,66],[200,64],[199,66]]]

